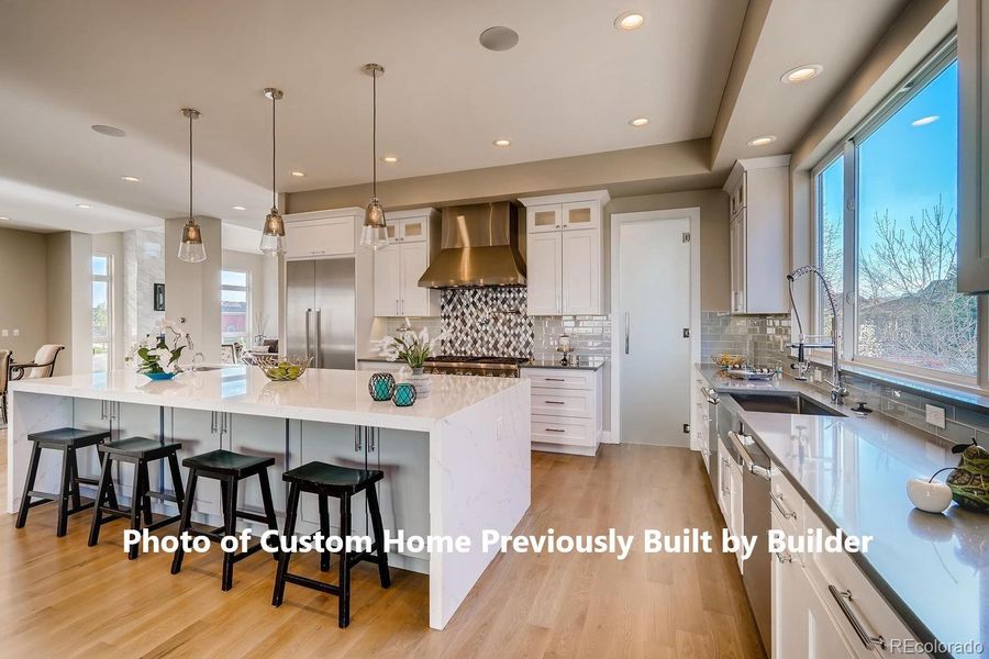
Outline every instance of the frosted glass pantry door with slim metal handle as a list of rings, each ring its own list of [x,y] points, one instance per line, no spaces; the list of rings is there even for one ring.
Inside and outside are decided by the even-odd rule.
[[[690,445],[690,219],[619,227],[622,443]]]

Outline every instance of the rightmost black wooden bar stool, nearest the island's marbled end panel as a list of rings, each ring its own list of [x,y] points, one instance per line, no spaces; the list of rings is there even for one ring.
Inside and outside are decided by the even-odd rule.
[[[286,582],[330,593],[340,597],[338,624],[341,628],[346,627],[351,624],[351,568],[363,560],[376,563],[378,577],[381,579],[381,588],[391,585],[388,554],[385,551],[384,545],[385,530],[381,524],[381,509],[378,506],[378,492],[375,489],[375,483],[384,479],[385,473],[374,469],[351,469],[325,462],[308,462],[286,471],[281,478],[290,484],[282,536],[290,539],[295,535],[296,518],[299,514],[299,495],[302,492],[310,492],[320,500],[320,530],[324,538],[329,536],[330,530],[327,496],[340,499],[340,537],[344,541],[340,552],[337,585],[292,574],[288,571],[292,552],[282,551],[278,560],[278,572],[275,576],[275,593],[271,596],[271,604],[281,606]],[[351,535],[351,498],[362,491],[366,492],[375,541],[370,551],[351,554],[346,546],[346,538]],[[330,568],[329,558],[330,556],[326,554],[320,556],[320,569],[324,572]]]

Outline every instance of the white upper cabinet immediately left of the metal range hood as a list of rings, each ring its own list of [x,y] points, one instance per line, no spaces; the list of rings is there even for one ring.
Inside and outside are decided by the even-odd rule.
[[[440,292],[419,286],[438,221],[435,209],[387,213],[388,246],[375,252],[376,316],[440,315]]]

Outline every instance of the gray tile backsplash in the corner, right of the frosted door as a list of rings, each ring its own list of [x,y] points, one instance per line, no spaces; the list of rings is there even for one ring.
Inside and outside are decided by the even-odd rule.
[[[731,353],[744,355],[749,364],[759,367],[788,368],[790,316],[732,315],[723,311],[701,312],[701,361],[709,364],[712,355]]]

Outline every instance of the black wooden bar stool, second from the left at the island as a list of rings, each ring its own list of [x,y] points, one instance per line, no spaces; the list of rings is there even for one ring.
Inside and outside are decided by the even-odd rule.
[[[89,529],[89,546],[93,547],[100,541],[100,527],[109,523],[112,517],[131,520],[131,528],[141,530],[141,513],[144,512],[144,527],[147,530],[156,530],[163,526],[177,522],[179,515],[173,515],[155,522],[152,515],[151,500],[160,499],[171,501],[179,509],[182,507],[182,474],[178,468],[178,450],[181,444],[162,444],[157,439],[146,437],[127,437],[116,442],[101,444],[99,450],[105,454],[103,469],[100,472],[99,490],[97,492],[96,512],[92,515],[92,526]],[[155,492],[151,489],[147,465],[155,460],[168,460],[171,472],[171,485],[175,495],[166,492]],[[116,504],[116,495],[113,488],[113,462],[129,462],[134,465],[134,487],[131,492],[131,507],[122,509]],[[110,518],[103,518],[107,515]],[[127,551],[127,558],[133,560],[138,556],[135,543]]]

